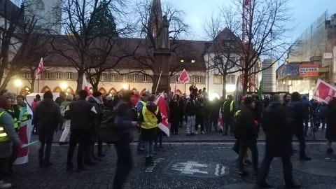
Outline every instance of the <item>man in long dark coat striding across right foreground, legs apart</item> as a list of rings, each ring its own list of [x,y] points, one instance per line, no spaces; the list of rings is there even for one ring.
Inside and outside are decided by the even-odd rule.
[[[262,129],[266,134],[265,157],[261,162],[257,183],[260,188],[272,188],[266,177],[269,166],[274,157],[280,157],[283,166],[283,176],[287,188],[300,188],[293,183],[292,162],[292,134],[287,123],[286,107],[278,94],[272,96],[272,103],[262,112]]]

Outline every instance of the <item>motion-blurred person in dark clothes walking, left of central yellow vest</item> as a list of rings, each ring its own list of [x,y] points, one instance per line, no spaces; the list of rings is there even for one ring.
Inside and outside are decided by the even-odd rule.
[[[130,142],[132,142],[132,128],[137,127],[137,111],[134,111],[132,102],[135,94],[130,90],[121,91],[121,99],[116,104],[115,124],[116,141],[114,146],[117,151],[117,167],[113,179],[113,189],[121,189],[130,174],[133,167],[132,150]]]

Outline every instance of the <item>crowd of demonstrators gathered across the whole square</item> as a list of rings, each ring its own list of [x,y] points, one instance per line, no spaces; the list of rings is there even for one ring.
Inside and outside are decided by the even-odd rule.
[[[66,169],[71,171],[73,154],[78,146],[78,172],[85,170],[85,166],[94,166],[98,157],[103,157],[103,141],[99,136],[99,126],[106,111],[114,114],[114,134],[111,143],[116,148],[118,156],[113,188],[123,188],[125,179],[133,166],[130,142],[133,141],[133,131],[138,130],[138,152],[144,152],[144,166],[153,165],[154,147],[162,145],[164,133],[158,128],[162,121],[159,107],[155,104],[158,94],[148,91],[141,94],[137,91],[120,90],[113,97],[106,97],[101,92],[80,90],[73,94],[60,92],[53,100],[52,92],[47,91],[27,104],[24,96],[16,96],[13,92],[0,92],[0,188],[10,188],[11,184],[3,181],[3,176],[13,174],[13,162],[18,148],[23,145],[18,137],[20,122],[32,119],[33,134],[38,134],[41,148],[38,150],[40,167],[50,167],[50,153],[55,130],[62,130],[59,144],[67,144],[69,148],[66,158]],[[248,149],[251,151],[253,174],[257,176],[257,183],[261,188],[272,187],[266,181],[269,167],[275,157],[280,157],[283,163],[283,175],[286,187],[300,188],[293,182],[292,164],[290,156],[295,150],[292,146],[293,135],[300,143],[300,160],[311,160],[305,153],[304,138],[309,133],[309,122],[326,128],[325,137],[328,139],[328,153],[332,153],[332,141],[336,140],[336,98],[325,104],[298,92],[285,94],[280,97],[274,94],[260,99],[252,94],[239,99],[228,95],[227,99],[209,100],[207,89],[198,90],[195,85],[190,86],[189,94],[165,94],[170,133],[177,135],[179,130],[186,130],[186,136],[191,137],[208,132],[230,134],[236,140],[233,150],[237,153],[239,165],[238,176],[244,177],[249,173],[244,169],[251,163]],[[29,112],[29,109],[32,111]],[[161,110],[162,111],[162,110]],[[223,123],[218,120],[223,120]],[[265,132],[265,157],[258,165],[257,139],[259,132]],[[97,143],[97,153],[94,144]]]

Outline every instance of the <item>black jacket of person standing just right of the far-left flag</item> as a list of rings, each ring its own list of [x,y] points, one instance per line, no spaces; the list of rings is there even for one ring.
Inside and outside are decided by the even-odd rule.
[[[36,106],[33,120],[38,128],[55,130],[62,120],[61,110],[52,99],[43,99]]]

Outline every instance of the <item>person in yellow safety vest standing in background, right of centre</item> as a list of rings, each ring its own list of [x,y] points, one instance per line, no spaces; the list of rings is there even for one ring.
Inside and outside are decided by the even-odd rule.
[[[225,100],[225,102],[223,103],[222,113],[225,126],[223,135],[228,135],[228,130],[230,127],[230,135],[232,136],[233,134],[232,121],[235,116],[235,102],[231,94],[228,95],[228,99]]]

